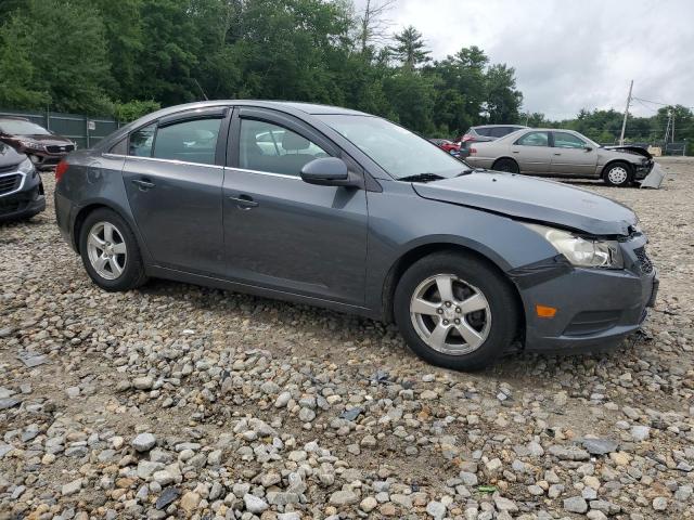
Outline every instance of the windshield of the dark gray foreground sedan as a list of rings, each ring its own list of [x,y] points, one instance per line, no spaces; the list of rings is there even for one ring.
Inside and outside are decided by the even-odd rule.
[[[318,115],[395,179],[434,173],[449,178],[468,167],[425,139],[372,116]]]

